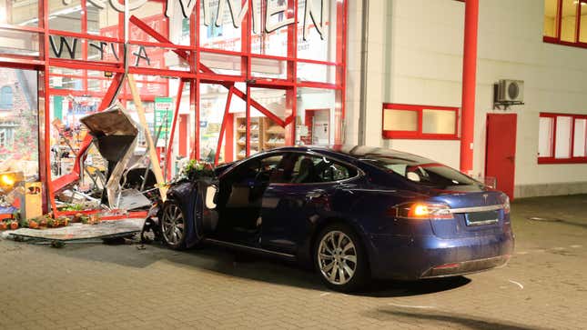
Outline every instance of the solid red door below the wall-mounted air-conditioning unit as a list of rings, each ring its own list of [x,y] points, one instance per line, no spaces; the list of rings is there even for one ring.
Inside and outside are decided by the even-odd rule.
[[[485,176],[495,177],[496,187],[513,199],[516,160],[516,114],[488,114]]]

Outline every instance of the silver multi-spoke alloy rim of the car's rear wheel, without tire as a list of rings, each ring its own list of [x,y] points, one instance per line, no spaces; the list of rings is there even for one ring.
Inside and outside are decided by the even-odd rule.
[[[340,231],[322,236],[318,248],[319,269],[333,285],[345,285],[357,270],[357,248],[350,237]]]

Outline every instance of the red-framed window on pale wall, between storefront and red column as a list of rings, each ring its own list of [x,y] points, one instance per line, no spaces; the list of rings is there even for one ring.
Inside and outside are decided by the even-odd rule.
[[[401,111],[413,111],[418,114],[418,128],[415,131],[396,131],[386,130],[381,127],[382,136],[385,139],[414,139],[414,140],[459,140],[459,108],[451,106],[436,106],[436,105],[402,105],[402,104],[383,104],[381,111],[381,123],[385,119],[385,110],[401,110]],[[424,110],[442,110],[442,111],[454,111],[455,123],[454,133],[452,134],[430,134],[422,132],[422,122],[424,117]]]

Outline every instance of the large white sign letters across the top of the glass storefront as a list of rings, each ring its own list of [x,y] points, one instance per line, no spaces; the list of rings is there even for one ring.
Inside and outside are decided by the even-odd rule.
[[[261,1],[263,0],[251,0],[253,7],[260,8]],[[292,1],[292,0],[290,0]],[[300,0],[301,1],[301,0]],[[319,1],[319,11],[315,10],[315,2]],[[303,38],[306,40],[309,27],[310,27],[310,20],[313,25],[316,27],[316,31],[320,35],[320,39],[324,40],[324,12],[326,9],[326,2],[328,0],[306,0],[305,9],[304,9],[304,22],[303,22]],[[72,0],[63,0],[65,5],[70,5]],[[125,11],[125,5],[122,5],[118,2],[118,0],[87,0],[87,2],[95,5],[100,9],[106,8],[106,2],[112,6],[116,11],[123,13]],[[211,11],[211,2],[212,0],[201,0],[202,2],[202,10],[204,14],[204,25],[209,26],[212,24],[212,11]],[[173,15],[173,6],[178,3],[181,8],[182,15],[185,18],[188,18],[192,15],[194,11],[194,7],[197,4],[196,0],[167,0],[166,3],[166,10],[165,15],[169,18]],[[243,18],[247,15],[247,11],[249,9],[249,1],[245,1],[244,4],[238,5],[241,3],[241,0],[218,0],[218,11],[216,13],[216,20],[214,22],[215,25],[220,26],[223,23],[223,16],[227,10],[230,11],[230,16],[232,18],[232,25],[235,28],[240,27],[242,24]],[[137,10],[141,6],[147,4],[147,0],[135,0],[128,4],[128,10],[133,11]],[[265,12],[265,31],[267,33],[271,33],[273,31],[278,30],[279,28],[286,27],[288,25],[295,24],[295,19],[293,17],[285,18],[288,11],[287,2],[283,2],[282,5],[278,5],[277,1],[270,1],[264,0],[264,7],[266,8]],[[240,8],[240,11],[237,10]],[[278,21],[275,21],[275,16],[278,17]],[[258,33],[261,25],[261,13],[256,12],[253,10],[253,32]],[[317,18],[319,17],[319,21]]]

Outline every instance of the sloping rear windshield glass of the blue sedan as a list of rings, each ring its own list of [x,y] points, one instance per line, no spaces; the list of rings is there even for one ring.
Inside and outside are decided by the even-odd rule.
[[[471,179],[467,175],[450,168],[447,165],[441,165],[433,162],[419,162],[424,158],[414,161],[409,158],[388,157],[388,156],[369,156],[361,159],[363,162],[380,167],[383,170],[401,175],[404,178],[417,182],[421,185],[430,185],[439,188],[448,188],[451,186],[462,185],[482,185],[480,182]]]

